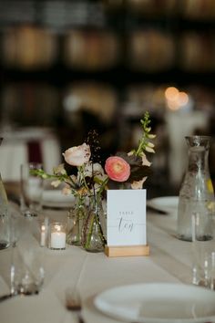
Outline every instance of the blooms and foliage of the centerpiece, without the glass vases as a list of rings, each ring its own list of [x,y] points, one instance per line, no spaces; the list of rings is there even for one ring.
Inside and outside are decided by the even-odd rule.
[[[53,173],[46,173],[42,169],[34,171],[36,175],[44,179],[53,179],[52,185],[57,187],[64,182],[62,190],[64,194],[85,195],[103,193],[111,186],[111,182],[120,183],[120,188],[130,184],[132,189],[141,189],[148,175],[151,173],[146,152],[154,153],[154,144],[151,142],[156,135],[151,134],[150,118],[148,111],[140,120],[142,127],[142,137],[138,141],[137,150],[127,152],[120,151],[115,156],[110,156],[105,162],[105,166],[99,162],[99,141],[97,132],[90,131],[87,141],[79,146],[67,149],[63,153],[65,162],[72,168],[76,168],[76,173],[69,174],[65,164],[61,163],[53,169]]]

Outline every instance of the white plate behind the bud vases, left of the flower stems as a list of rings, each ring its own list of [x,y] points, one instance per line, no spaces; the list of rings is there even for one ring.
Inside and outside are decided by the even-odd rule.
[[[46,207],[71,207],[74,201],[74,195],[65,195],[61,190],[44,190],[43,192],[43,205]]]

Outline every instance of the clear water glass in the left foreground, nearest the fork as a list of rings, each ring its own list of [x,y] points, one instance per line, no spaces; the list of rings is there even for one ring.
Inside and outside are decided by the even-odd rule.
[[[19,234],[12,247],[11,293],[37,294],[43,286],[44,248],[40,247],[40,226],[35,217],[18,219]]]

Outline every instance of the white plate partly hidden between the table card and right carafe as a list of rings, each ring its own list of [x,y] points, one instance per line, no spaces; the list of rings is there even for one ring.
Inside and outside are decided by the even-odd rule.
[[[161,196],[148,200],[148,206],[167,213],[177,211],[178,204],[179,196]]]

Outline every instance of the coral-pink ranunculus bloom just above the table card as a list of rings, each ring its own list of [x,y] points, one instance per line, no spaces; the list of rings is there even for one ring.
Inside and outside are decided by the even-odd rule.
[[[116,182],[126,182],[130,175],[130,165],[118,156],[107,158],[105,170],[109,178]]]

